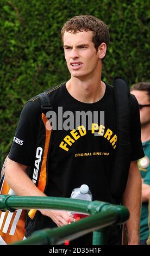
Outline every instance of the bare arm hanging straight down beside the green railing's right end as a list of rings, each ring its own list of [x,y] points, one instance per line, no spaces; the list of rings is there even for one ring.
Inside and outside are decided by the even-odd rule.
[[[140,212],[141,212],[141,174],[137,162],[130,163],[126,190],[123,193],[122,203],[130,212],[126,223],[128,245],[139,245]]]

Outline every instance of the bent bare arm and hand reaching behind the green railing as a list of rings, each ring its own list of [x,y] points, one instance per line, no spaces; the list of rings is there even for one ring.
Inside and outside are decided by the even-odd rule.
[[[8,185],[18,196],[46,197],[46,194],[41,192],[39,188],[35,186],[32,180],[30,180],[26,174],[26,169],[27,166],[8,159],[5,167],[5,180],[7,181]],[[74,219],[70,217],[66,211],[44,209],[40,209],[39,211],[41,214],[52,218],[58,227],[74,221]]]

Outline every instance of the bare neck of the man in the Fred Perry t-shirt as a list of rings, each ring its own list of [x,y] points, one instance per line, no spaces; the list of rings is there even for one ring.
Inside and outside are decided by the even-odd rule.
[[[97,102],[105,93],[105,83],[99,77],[95,81],[82,81],[73,77],[66,83],[66,88],[74,99],[84,103]]]

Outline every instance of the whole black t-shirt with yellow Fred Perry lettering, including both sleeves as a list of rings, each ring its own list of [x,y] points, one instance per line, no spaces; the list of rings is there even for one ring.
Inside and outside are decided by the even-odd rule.
[[[68,93],[65,83],[52,89],[49,97],[57,118],[55,121],[52,119],[46,194],[70,197],[73,188],[87,184],[93,200],[115,203],[109,188],[117,144],[114,88],[106,84],[104,96],[95,103],[74,99]],[[27,166],[33,163],[40,108],[39,99],[24,106],[9,153],[11,160]],[[131,161],[134,161],[143,157],[143,150],[139,108],[133,96],[131,109]],[[85,120],[83,112],[86,112]],[[79,114],[83,114],[80,121]]]

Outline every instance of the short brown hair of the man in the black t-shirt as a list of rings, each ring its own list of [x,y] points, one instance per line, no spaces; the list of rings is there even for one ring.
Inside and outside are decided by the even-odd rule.
[[[91,15],[74,16],[72,19],[67,21],[61,29],[62,42],[65,31],[73,33],[92,31],[94,32],[92,42],[95,45],[96,50],[98,49],[98,46],[102,44],[102,42],[105,42],[108,48],[109,30],[107,25],[105,25],[103,21]]]

